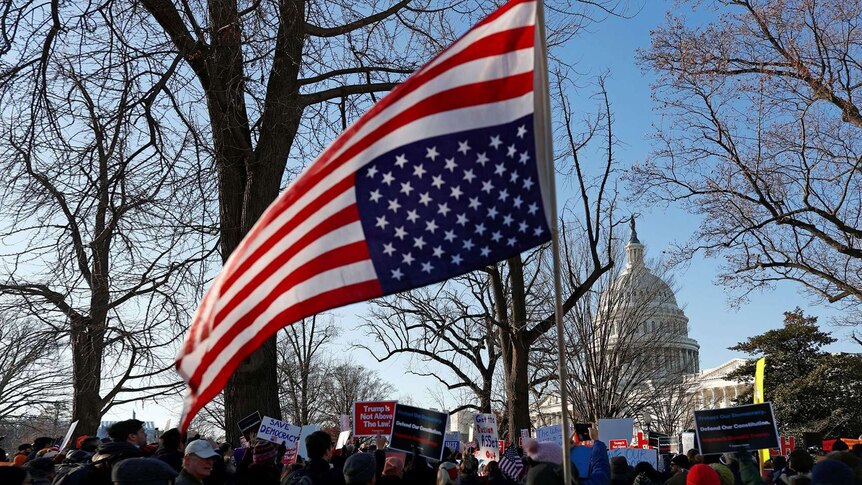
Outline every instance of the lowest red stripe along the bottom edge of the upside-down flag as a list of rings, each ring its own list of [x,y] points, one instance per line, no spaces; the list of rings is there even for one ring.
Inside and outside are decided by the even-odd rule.
[[[183,422],[181,423],[180,429],[188,429],[189,422],[195,414],[201,410],[204,404],[212,400],[212,398],[224,389],[225,384],[227,384],[227,380],[233,374],[233,371],[236,370],[237,366],[239,366],[239,363],[257,350],[263,342],[275,335],[276,332],[284,326],[282,322],[284,322],[285,319],[291,319],[290,321],[295,322],[329,308],[356,303],[358,301],[370,300],[371,298],[381,296],[382,294],[383,290],[380,288],[379,282],[364,281],[362,283],[356,283],[320,293],[317,296],[309,298],[308,300],[294,305],[280,313],[277,318],[274,318],[266,325],[266,327],[258,332],[254,339],[244,345],[225,363],[222,367],[222,372],[219,372],[213,382],[201,390],[201,393],[197,393],[197,388],[191,387],[190,385],[192,392],[195,393],[193,398],[194,401],[192,406],[183,415]]]

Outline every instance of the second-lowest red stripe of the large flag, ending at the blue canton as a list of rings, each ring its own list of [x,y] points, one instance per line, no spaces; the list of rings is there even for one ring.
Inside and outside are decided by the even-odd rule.
[[[263,312],[265,312],[267,308],[284,293],[287,293],[297,284],[302,283],[303,281],[317,274],[338,268],[340,266],[345,266],[367,259],[370,259],[370,255],[368,254],[368,245],[365,243],[365,241],[358,241],[322,253],[316,258],[297,268],[296,271],[291,272],[286,278],[281,280],[277,285],[272,288],[272,291],[267,294],[266,298],[259,301],[254,306],[254,308],[249,310],[239,320],[234,322],[224,333],[224,335],[222,335],[221,338],[219,338],[219,340],[215,342],[215,344],[209,346],[209,348],[207,349],[207,353],[201,358],[200,362],[195,368],[194,374],[192,374],[192,376],[188,379],[189,387],[192,389],[196,389],[200,383],[202,375],[204,374],[204,372],[206,372],[206,370],[213,363],[213,361],[218,358],[219,354],[236,338],[237,335],[239,335],[240,332],[242,332],[248,326],[254,323],[255,319],[257,319]],[[303,308],[303,312],[305,311],[304,303],[305,302],[300,302],[300,305],[302,305]],[[334,305],[333,303],[333,306],[340,305],[341,304]],[[294,306],[292,306],[291,308],[293,308]],[[297,313],[299,313],[299,311],[297,311]],[[270,319],[270,322],[267,325],[275,322],[275,324],[278,325],[278,327],[280,328],[286,325],[285,322],[295,322],[296,320],[303,318],[304,316],[311,315],[312,313],[304,313],[302,314],[302,316],[299,316],[292,320],[283,319],[281,316],[283,314],[284,312]],[[249,344],[246,344],[243,347],[248,346]]]

